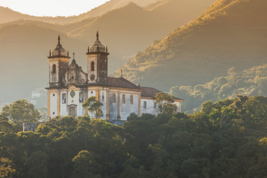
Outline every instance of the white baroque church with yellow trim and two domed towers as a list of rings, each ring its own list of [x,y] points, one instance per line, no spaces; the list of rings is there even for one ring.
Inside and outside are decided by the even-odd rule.
[[[73,60],[69,65],[69,51],[60,44],[49,53],[48,120],[55,116],[82,116],[88,111],[82,104],[91,96],[103,103],[101,107],[105,120],[127,120],[130,113],[141,116],[143,113],[157,115],[159,110],[153,97],[160,93],[150,87],[135,85],[122,76],[108,77],[108,48],[96,41],[86,53],[87,73]],[[173,97],[177,112],[180,112],[182,99]],[[94,117],[88,113],[90,117]]]

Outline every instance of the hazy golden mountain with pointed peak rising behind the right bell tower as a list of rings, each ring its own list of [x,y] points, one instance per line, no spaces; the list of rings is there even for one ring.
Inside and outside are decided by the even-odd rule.
[[[122,8],[105,13],[86,26],[71,31],[69,35],[94,39],[95,29],[99,27],[100,41],[108,45],[111,52],[109,72],[113,72],[118,66],[127,62],[128,56],[133,56],[151,45],[154,39],[163,38],[176,27],[198,17],[213,2],[214,0],[205,2],[168,0],[160,5],[151,4],[150,10],[144,10],[148,7],[141,8],[131,2]],[[200,7],[191,6],[193,4]],[[191,9],[188,8],[190,6]],[[183,10],[184,7],[187,10]],[[187,14],[190,16],[184,18]]]

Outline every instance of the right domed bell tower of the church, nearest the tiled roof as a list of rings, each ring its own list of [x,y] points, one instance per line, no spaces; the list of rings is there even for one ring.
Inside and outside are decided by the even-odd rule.
[[[108,84],[108,48],[99,41],[98,31],[96,41],[90,47],[88,46],[87,67],[88,67],[88,84],[107,85]]]

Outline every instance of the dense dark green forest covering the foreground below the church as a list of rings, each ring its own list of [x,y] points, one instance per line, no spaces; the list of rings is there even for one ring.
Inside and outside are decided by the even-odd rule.
[[[266,106],[238,95],[194,114],[130,116],[122,127],[56,117],[35,133],[1,115],[0,177],[266,177]]]

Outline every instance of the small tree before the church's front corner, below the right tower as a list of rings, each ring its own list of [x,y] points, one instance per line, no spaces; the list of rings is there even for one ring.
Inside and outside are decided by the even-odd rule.
[[[95,118],[97,119],[99,116],[103,117],[103,111],[100,108],[101,106],[104,106],[103,103],[96,100],[95,96],[89,97],[85,103],[83,103],[83,107],[88,109],[88,112],[95,115]]]

